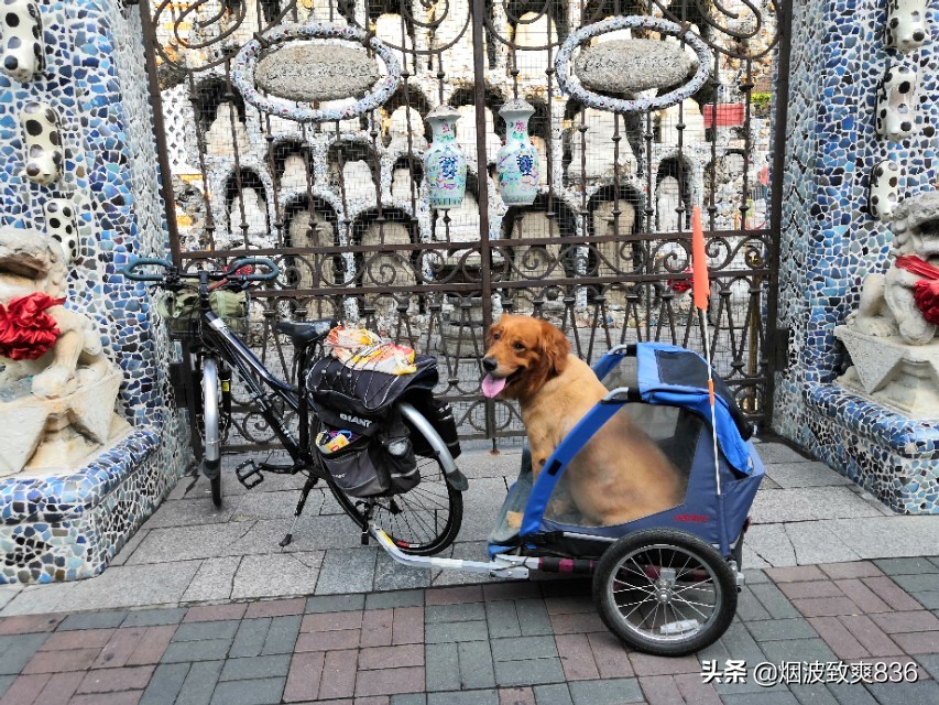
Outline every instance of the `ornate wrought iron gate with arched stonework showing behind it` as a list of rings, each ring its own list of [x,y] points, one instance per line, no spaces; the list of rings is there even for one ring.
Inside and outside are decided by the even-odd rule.
[[[701,316],[685,293],[690,210],[701,205],[713,359],[745,412],[765,422],[782,196],[769,175],[780,173],[785,140],[783,129],[771,134],[771,111],[776,124],[785,124],[784,6],[142,3],[173,257],[189,268],[245,254],[282,265],[276,284],[253,299],[251,340],[285,376],[294,371],[290,344],[274,333],[279,318],[361,323],[436,355],[439,391],[458,410],[462,434],[498,437],[523,433],[515,409],[479,392],[484,332],[502,312],[553,321],[588,361],[623,341],[702,349]],[[710,53],[705,85],[670,107],[625,115],[565,94],[565,77],[555,69],[564,43],[579,28],[625,15],[665,18],[703,40]],[[299,123],[258,110],[233,86],[232,64],[250,40],[288,22],[364,30],[397,57],[400,87],[352,119]],[[702,61],[685,40],[654,29],[620,30],[590,42],[633,39],[668,43],[673,55],[694,56],[692,66]],[[262,46],[270,48],[266,41]],[[543,169],[535,203],[506,208],[494,181],[495,152],[505,137],[498,111],[515,97],[535,108],[528,127]],[[327,96],[313,107],[336,109],[354,100]],[[461,116],[458,140],[469,177],[461,207],[434,212],[421,158],[429,139],[425,118],[438,105]],[[241,401],[237,441],[263,447],[271,434]]]

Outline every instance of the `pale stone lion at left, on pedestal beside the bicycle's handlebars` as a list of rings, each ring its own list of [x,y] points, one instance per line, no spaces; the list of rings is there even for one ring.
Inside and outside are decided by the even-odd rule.
[[[0,386],[32,377],[33,394],[55,399],[111,370],[91,321],[62,305],[66,261],[53,238],[37,230],[0,227],[0,305],[9,306],[30,294],[47,294],[56,301],[45,313],[59,330],[52,348],[36,359],[0,357]]]

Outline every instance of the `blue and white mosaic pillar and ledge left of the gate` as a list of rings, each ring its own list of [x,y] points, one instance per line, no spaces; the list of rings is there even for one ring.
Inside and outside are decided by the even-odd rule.
[[[116,275],[128,257],[166,251],[137,7],[112,0],[41,4],[46,69],[20,84],[0,73],[0,218],[45,227],[47,198],[79,212],[79,257],[68,306],[99,327],[125,383],[118,412],[135,431],[67,476],[0,481],[0,583],[102,571],[183,471],[185,425],[170,411],[168,339],[146,290]],[[63,178],[39,186],[23,171],[19,111],[42,100],[62,116]]]

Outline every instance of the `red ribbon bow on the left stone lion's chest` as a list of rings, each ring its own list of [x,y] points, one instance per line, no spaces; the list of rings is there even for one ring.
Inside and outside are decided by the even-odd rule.
[[[0,357],[35,360],[48,352],[62,332],[45,310],[64,303],[35,292],[0,304]]]

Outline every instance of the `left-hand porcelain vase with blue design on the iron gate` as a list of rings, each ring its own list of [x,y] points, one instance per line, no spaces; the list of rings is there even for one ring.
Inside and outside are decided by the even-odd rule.
[[[467,158],[457,144],[459,113],[440,106],[430,111],[427,122],[434,141],[424,153],[424,177],[432,208],[456,208],[463,202],[467,188]]]

